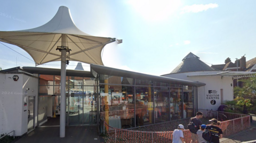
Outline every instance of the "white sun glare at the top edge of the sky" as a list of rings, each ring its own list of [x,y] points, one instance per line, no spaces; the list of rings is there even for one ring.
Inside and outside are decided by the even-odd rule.
[[[181,5],[180,0],[130,0],[129,4],[147,20],[166,20]]]

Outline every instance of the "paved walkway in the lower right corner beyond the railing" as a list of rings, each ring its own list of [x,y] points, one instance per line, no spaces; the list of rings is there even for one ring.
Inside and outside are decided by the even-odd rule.
[[[221,139],[221,143],[236,143],[256,140],[256,116],[252,117],[251,128],[238,132],[227,138]]]

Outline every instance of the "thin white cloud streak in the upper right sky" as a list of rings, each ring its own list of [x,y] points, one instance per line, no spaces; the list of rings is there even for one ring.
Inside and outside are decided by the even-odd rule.
[[[206,11],[208,9],[214,9],[218,6],[219,6],[218,4],[213,4],[213,3],[187,5],[181,9],[181,13],[189,13],[189,12],[197,13],[197,12]]]

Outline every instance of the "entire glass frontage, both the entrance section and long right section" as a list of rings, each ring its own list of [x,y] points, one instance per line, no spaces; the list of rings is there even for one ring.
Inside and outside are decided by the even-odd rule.
[[[39,96],[55,95],[58,112],[60,76],[39,77]],[[99,114],[102,129],[103,121],[126,129],[192,117],[197,107],[197,87],[109,75],[66,77],[66,97],[68,125],[97,124]]]

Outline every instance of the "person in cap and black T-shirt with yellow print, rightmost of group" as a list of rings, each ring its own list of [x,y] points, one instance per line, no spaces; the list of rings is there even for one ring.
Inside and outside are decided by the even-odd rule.
[[[223,134],[222,130],[217,127],[217,125],[220,125],[220,121],[218,121],[217,119],[212,119],[209,120],[209,122],[211,123],[211,125],[207,125],[207,127],[205,128],[203,138],[205,140],[210,139],[208,141],[211,143],[219,143]],[[207,133],[207,131],[209,131],[210,133]]]

